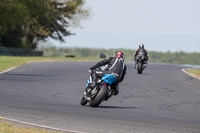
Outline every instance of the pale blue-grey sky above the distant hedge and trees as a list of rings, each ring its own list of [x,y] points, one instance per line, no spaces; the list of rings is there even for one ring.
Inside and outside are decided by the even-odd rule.
[[[69,47],[200,52],[200,0],[86,0],[92,17]],[[59,43],[54,42],[59,45]]]

